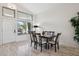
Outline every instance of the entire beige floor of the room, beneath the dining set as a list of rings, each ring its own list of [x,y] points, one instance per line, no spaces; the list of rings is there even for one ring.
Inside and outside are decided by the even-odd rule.
[[[79,56],[79,48],[60,46],[60,50],[56,53],[54,48],[49,50],[43,49],[40,52],[40,48],[34,49],[29,42],[13,42],[0,46],[0,56]]]

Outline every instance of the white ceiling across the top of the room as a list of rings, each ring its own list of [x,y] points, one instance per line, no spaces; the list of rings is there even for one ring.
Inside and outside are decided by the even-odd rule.
[[[16,3],[16,5],[21,6],[27,10],[32,11],[34,14],[38,14],[41,13],[43,11],[46,11],[48,9],[55,9],[55,8],[59,8],[62,6],[73,6],[73,5],[79,5],[79,4],[67,4],[67,3]]]

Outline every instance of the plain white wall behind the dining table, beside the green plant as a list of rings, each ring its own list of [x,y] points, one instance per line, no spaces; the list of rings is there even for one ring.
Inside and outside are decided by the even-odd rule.
[[[37,14],[35,23],[44,27],[44,30],[61,32],[60,44],[77,46],[73,40],[74,28],[69,20],[79,12],[79,4],[62,4]]]

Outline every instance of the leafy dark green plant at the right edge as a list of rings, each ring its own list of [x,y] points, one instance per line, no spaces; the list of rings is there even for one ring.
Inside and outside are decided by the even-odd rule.
[[[75,28],[74,40],[79,43],[79,12],[77,12],[77,16],[71,18],[70,22]]]

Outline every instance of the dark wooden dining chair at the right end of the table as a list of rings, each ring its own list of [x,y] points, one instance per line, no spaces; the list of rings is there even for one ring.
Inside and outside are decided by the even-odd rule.
[[[49,44],[51,44],[51,47],[53,47],[53,45],[55,46],[55,52],[57,51],[57,48],[59,50],[59,37],[60,37],[61,33],[57,33],[56,36],[54,36],[54,38],[49,41]]]

